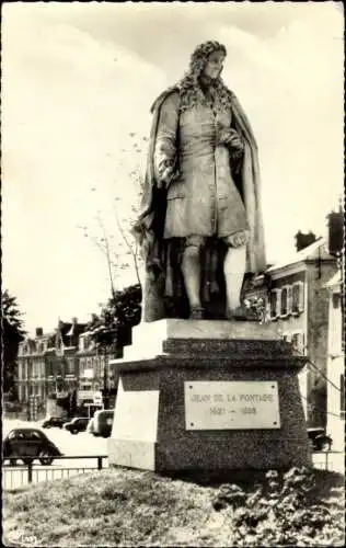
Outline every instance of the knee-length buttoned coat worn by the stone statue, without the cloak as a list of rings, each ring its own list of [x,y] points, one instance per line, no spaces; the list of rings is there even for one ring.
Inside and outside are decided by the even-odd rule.
[[[154,147],[154,175],[173,163],[168,191],[165,239],[198,235],[227,237],[249,229],[245,206],[232,176],[226,145],[216,146],[217,125],[230,127],[232,112],[216,101],[180,114],[178,92],[162,103]],[[177,145],[178,144],[178,145]]]

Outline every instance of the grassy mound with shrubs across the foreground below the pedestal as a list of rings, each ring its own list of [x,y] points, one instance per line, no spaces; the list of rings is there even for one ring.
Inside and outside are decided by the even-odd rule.
[[[23,487],[3,493],[3,544],[343,546],[344,477],[310,471],[307,490],[298,472],[280,488],[273,473],[201,486],[117,468]]]

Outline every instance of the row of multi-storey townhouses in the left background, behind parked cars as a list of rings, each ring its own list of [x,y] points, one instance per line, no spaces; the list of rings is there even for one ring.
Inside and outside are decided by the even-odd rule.
[[[116,341],[96,344],[88,327],[76,318],[59,320],[54,332],[37,328],[20,344],[18,385],[24,408],[34,401],[41,414],[66,414],[72,395],[80,414],[112,406],[117,377],[109,361],[118,357]]]

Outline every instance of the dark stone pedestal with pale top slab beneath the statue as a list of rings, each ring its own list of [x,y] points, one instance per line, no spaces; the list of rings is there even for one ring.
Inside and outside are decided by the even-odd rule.
[[[274,324],[215,320],[143,323],[134,329],[134,343],[124,358],[114,363],[120,376],[108,439],[109,466],[188,472],[311,465],[298,385],[304,358],[292,354]],[[200,381],[206,385],[198,385]],[[201,415],[195,424],[186,391],[196,384],[207,390],[195,399],[208,400],[209,391],[214,407],[200,401]],[[235,411],[230,403],[214,403],[214,387],[220,386],[223,398],[232,400],[233,390],[241,393],[234,396],[243,398],[234,403]],[[251,387],[247,400],[244,386]],[[278,407],[272,403],[267,416],[261,415],[263,403],[253,401],[254,391],[261,392],[263,386],[277,393]],[[257,413],[253,423],[242,415],[244,407]],[[214,416],[215,427],[210,427],[205,413],[220,412],[215,408],[224,408],[224,414],[223,419]],[[198,409],[194,407],[194,416]],[[234,422],[226,413],[234,413]],[[239,425],[240,420],[245,420],[245,427]]]

